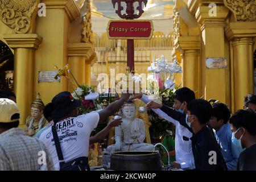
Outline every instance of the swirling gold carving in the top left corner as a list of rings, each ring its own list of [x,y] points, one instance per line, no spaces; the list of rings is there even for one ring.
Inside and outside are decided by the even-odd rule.
[[[0,0],[0,19],[17,34],[26,34],[31,27],[32,13],[38,0]]]

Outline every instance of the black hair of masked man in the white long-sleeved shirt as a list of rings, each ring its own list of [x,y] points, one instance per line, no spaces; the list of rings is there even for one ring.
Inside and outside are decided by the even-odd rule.
[[[174,98],[176,100],[179,100],[181,103],[184,101],[189,103],[190,101],[195,100],[196,96],[195,92],[193,92],[191,89],[183,87],[176,90],[176,92],[174,93]]]

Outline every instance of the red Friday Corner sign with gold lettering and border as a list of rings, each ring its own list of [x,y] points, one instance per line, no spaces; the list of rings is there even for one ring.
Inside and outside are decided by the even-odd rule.
[[[151,39],[154,27],[151,20],[110,20],[109,39]]]

